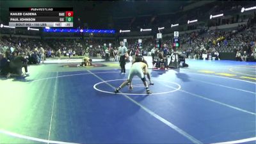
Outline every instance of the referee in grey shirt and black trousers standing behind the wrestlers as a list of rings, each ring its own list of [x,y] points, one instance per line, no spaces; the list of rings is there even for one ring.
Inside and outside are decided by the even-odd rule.
[[[124,42],[120,42],[120,47],[118,48],[119,55],[120,55],[120,67],[121,72],[120,74],[125,74],[125,55],[127,55],[127,48],[124,46]]]

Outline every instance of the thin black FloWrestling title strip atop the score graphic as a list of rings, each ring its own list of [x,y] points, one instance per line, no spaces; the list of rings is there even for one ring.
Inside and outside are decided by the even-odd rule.
[[[9,12],[68,12],[73,8],[9,8]]]

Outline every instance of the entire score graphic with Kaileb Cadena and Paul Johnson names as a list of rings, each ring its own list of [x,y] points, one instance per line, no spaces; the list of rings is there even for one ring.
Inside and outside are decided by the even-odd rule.
[[[9,8],[9,26],[73,27],[73,8]]]

